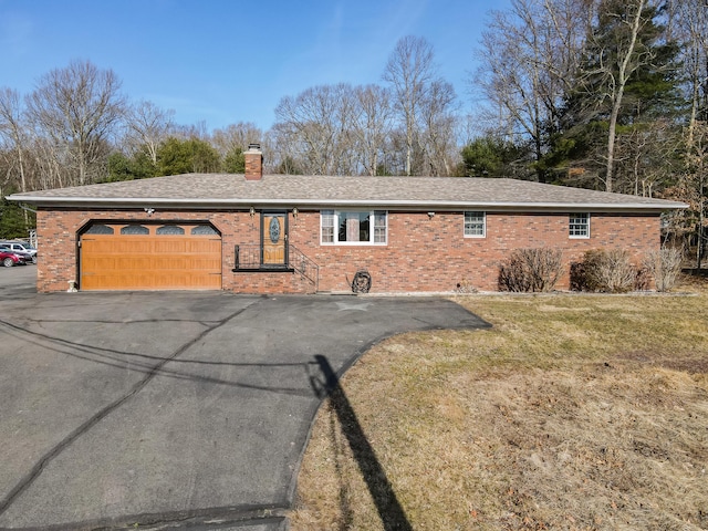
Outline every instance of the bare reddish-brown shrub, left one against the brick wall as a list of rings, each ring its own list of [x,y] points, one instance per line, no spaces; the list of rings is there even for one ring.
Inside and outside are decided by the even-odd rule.
[[[552,291],[563,274],[563,253],[558,249],[517,249],[499,268],[499,289],[516,292]]]

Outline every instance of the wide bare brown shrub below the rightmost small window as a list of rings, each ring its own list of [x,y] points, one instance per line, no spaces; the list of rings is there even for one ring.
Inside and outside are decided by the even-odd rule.
[[[624,249],[585,251],[583,261],[571,267],[571,288],[583,291],[626,293],[641,279]]]

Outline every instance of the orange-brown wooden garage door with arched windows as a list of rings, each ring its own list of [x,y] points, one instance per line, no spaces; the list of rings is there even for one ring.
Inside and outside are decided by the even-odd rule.
[[[219,290],[210,225],[94,223],[81,237],[82,290]]]

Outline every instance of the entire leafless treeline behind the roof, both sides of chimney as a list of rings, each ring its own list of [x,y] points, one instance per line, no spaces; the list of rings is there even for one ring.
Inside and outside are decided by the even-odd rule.
[[[450,175],[459,162],[456,95],[436,74],[431,45],[402,39],[384,80],[285,96],[267,133],[250,123],[208,132],[176,125],[173,111],[152,102],[129,102],[112,70],[74,61],[42,76],[31,94],[0,88],[0,192],[131,178],[111,175],[116,154],[149,166],[140,176],[160,175],[160,158],[174,156],[174,145],[164,153],[169,138],[201,142],[211,170],[239,168],[238,156],[260,140],[273,171]]]

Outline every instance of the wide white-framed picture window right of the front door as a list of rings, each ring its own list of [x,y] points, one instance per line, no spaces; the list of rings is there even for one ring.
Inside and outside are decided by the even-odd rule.
[[[320,241],[334,244],[385,244],[387,216],[384,210],[322,210]]]

